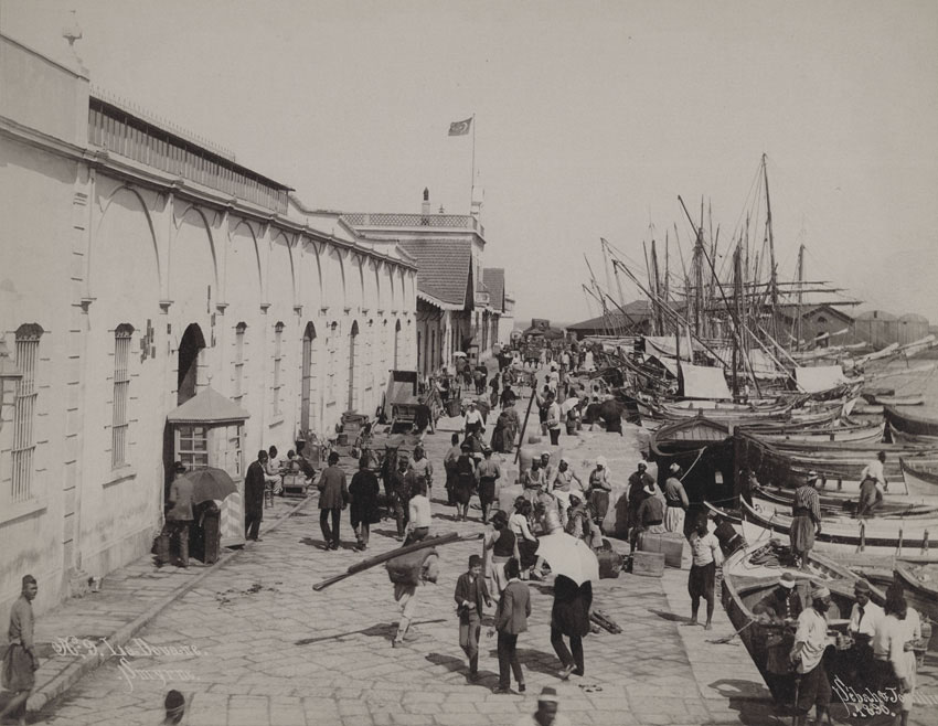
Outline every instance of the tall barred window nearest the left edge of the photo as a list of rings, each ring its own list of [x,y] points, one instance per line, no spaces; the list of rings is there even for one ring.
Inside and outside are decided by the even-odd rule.
[[[33,459],[35,453],[35,369],[39,361],[39,339],[43,330],[36,323],[17,330],[17,367],[22,377],[17,383],[13,401],[13,501],[24,502],[32,497]]]

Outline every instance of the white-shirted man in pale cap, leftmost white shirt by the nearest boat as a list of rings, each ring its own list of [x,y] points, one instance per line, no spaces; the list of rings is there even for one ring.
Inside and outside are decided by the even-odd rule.
[[[823,717],[831,703],[831,684],[822,661],[828,644],[825,613],[830,608],[831,591],[819,587],[811,591],[811,607],[798,616],[795,648],[791,649],[791,662],[801,676],[795,704],[795,726],[807,725],[812,705],[818,712],[817,723],[824,723]]]

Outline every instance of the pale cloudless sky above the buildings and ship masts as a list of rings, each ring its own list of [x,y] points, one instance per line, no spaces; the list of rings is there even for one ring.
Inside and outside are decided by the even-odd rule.
[[[0,0],[0,30],[234,150],[308,206],[466,214],[516,317],[598,314],[599,238],[723,252],[767,157],[780,279],[938,322],[938,2]],[[477,193],[479,193],[477,190]],[[723,244],[727,243],[727,244]],[[614,282],[612,282],[614,285]],[[618,293],[617,293],[618,295]],[[627,299],[640,297],[630,284]]]

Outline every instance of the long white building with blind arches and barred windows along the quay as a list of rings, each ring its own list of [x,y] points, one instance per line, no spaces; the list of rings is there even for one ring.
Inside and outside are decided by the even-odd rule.
[[[25,573],[41,612],[149,551],[210,382],[246,466],[415,367],[413,260],[290,192],[0,36],[0,621]]]

